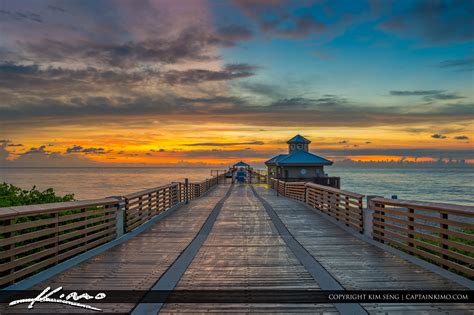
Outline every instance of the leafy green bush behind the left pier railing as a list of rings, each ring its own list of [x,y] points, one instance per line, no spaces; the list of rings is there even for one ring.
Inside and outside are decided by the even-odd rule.
[[[63,202],[74,200],[73,194],[58,196],[52,188],[39,191],[36,186],[24,190],[11,184],[0,184],[0,207],[13,207],[40,203]]]

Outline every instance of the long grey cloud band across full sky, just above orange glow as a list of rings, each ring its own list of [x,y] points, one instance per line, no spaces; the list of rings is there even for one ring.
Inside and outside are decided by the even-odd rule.
[[[237,96],[180,97],[168,94],[129,97],[73,97],[17,100],[15,106],[0,107],[0,121],[5,126],[16,119],[35,117],[67,119],[79,124],[92,123],[91,118],[117,117],[117,123],[144,119],[180,121],[208,120],[222,123],[239,121],[261,126],[381,126],[469,121],[474,116],[472,103],[446,103],[436,107],[376,106],[358,104],[338,96],[320,98],[283,98],[254,103],[252,98]],[[146,116],[146,117],[144,117]],[[168,118],[167,118],[168,117]],[[34,120],[47,124],[49,119]]]

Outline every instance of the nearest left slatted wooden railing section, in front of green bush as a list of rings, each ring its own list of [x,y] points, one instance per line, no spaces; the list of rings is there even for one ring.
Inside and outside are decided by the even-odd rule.
[[[0,287],[116,237],[114,198],[2,208]]]

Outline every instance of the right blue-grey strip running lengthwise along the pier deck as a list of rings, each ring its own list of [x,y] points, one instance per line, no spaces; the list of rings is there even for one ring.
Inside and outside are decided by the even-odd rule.
[[[293,237],[290,231],[288,231],[286,228],[285,224],[278,217],[273,207],[255,191],[253,186],[250,187],[257,199],[262,203],[263,207],[267,211],[268,216],[272,220],[273,224],[278,230],[278,233],[280,233],[288,248],[291,249],[301,264],[319,284],[321,289],[344,290],[344,287]],[[343,315],[368,314],[367,311],[357,303],[336,303],[334,306]]]

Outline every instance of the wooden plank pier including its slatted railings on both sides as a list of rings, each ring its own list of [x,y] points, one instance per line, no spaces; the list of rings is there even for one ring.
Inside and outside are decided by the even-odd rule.
[[[375,198],[367,209],[363,195],[317,184],[224,179],[1,209],[0,283],[80,292],[474,288],[474,237],[463,230],[472,228],[466,218],[474,217],[473,207]],[[113,314],[474,314],[464,303],[88,304]],[[25,304],[0,306],[1,314],[28,311]],[[34,307],[74,312],[96,311]]]

